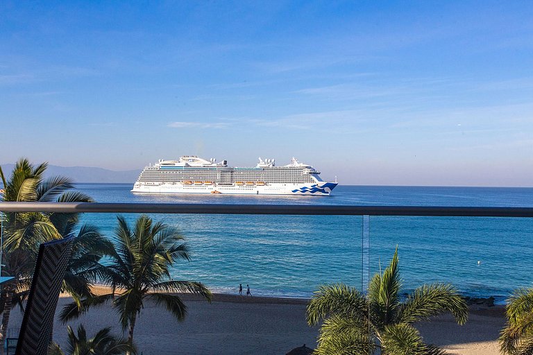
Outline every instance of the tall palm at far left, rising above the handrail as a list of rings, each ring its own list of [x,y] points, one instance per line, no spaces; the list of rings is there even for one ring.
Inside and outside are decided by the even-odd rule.
[[[84,193],[72,191],[74,185],[68,178],[44,178],[47,163],[33,166],[28,159],[19,159],[6,179],[1,167],[0,178],[5,202],[91,202]],[[17,212],[3,214],[2,269],[4,275],[14,277],[3,285],[3,316],[0,340],[5,338],[13,300],[21,300],[31,284],[33,267],[40,243],[62,238],[62,232],[78,222],[78,214],[45,214]],[[74,287],[72,288],[74,290]]]

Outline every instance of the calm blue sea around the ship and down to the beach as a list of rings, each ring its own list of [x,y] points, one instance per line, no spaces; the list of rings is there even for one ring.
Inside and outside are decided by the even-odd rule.
[[[78,184],[98,202],[301,205],[533,207],[533,188],[339,186],[332,196],[141,195],[131,184]],[[133,221],[137,217],[127,214]],[[320,284],[362,285],[362,217],[153,215],[176,225],[192,248],[175,279],[213,291],[309,297]],[[116,217],[85,214],[83,222],[112,237]],[[533,218],[371,217],[371,272],[398,245],[403,288],[449,282],[462,293],[505,300],[533,286]]]

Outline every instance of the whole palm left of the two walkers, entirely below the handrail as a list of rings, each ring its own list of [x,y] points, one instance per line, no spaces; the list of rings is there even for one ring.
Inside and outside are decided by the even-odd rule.
[[[141,216],[132,230],[124,217],[118,216],[117,219],[115,251],[110,255],[108,270],[101,275],[101,281],[111,286],[113,292],[87,298],[81,304],[71,303],[62,310],[60,318],[66,322],[85,313],[91,306],[112,300],[122,329],[128,329],[128,341],[133,343],[135,321],[146,300],[166,306],[177,320],[182,321],[187,307],[178,295],[169,293],[196,293],[209,302],[212,294],[199,282],[171,279],[169,268],[178,259],[190,259],[189,249],[185,243],[180,243],[183,236],[176,228],[153,223],[149,216]]]

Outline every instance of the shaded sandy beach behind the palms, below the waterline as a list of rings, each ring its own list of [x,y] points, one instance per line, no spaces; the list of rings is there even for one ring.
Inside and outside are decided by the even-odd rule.
[[[105,291],[101,289],[100,291]],[[214,295],[211,304],[192,295],[183,297],[188,307],[187,319],[177,322],[159,306],[146,302],[137,318],[134,340],[139,354],[276,354],[294,347],[316,346],[317,327],[305,322],[307,300],[272,297]],[[70,302],[61,297],[58,311]],[[459,326],[450,315],[431,322],[418,323],[428,343],[441,345],[450,354],[496,355],[498,333],[505,324],[501,306],[476,306],[470,320]],[[16,327],[22,316],[16,309],[10,324]],[[103,327],[121,334],[117,314],[110,306],[92,309],[72,327],[84,324],[89,336]],[[56,321],[54,340],[65,344],[66,325]]]

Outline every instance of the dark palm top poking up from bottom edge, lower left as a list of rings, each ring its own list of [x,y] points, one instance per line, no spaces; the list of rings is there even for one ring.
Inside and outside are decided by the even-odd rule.
[[[137,354],[135,347],[128,343],[127,339],[117,338],[111,335],[110,328],[101,329],[94,338],[87,339],[87,332],[83,325],[78,327],[78,336],[74,330],[67,327],[69,340],[65,351],[58,344],[49,348],[49,355],[121,355]]]

